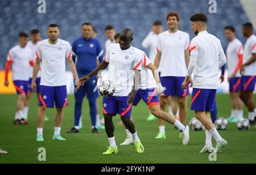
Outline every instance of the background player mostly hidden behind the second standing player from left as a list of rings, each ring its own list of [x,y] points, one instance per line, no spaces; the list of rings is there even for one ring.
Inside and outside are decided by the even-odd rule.
[[[31,50],[32,52],[32,59],[33,59],[33,65],[35,64],[35,59],[36,59],[36,47],[38,45],[38,42],[41,40],[41,35],[40,35],[40,31],[38,29],[33,29],[30,32],[30,41],[28,41],[27,43],[27,47]],[[32,76],[33,76],[33,67],[29,68],[29,73],[30,73],[30,85],[32,82]],[[39,104],[39,92],[40,92],[40,80],[41,80],[41,73],[39,71],[38,73],[38,77],[36,78],[36,93],[37,93],[37,97],[38,97],[38,104]],[[32,90],[30,88],[30,91],[32,93]],[[24,106],[24,119],[27,120],[28,118],[28,109],[30,106],[30,97],[31,95],[28,95],[26,102],[25,102],[25,106]],[[48,121],[49,119],[46,116],[46,121]]]

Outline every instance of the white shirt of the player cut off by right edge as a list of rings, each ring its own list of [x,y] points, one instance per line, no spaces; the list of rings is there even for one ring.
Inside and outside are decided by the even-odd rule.
[[[243,63],[247,62],[251,59],[253,55],[252,53],[256,53],[256,36],[251,35],[246,43],[245,43],[245,52],[243,53]],[[256,76],[256,61],[253,64],[245,67],[244,76]]]

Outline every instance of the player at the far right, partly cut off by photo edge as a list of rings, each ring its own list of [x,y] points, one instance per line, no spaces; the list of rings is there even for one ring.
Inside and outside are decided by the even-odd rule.
[[[251,124],[256,123],[256,109],[253,91],[256,83],[256,36],[253,34],[253,24],[245,23],[242,27],[243,36],[247,38],[245,51],[243,54],[242,92],[240,98],[249,110],[249,120]]]

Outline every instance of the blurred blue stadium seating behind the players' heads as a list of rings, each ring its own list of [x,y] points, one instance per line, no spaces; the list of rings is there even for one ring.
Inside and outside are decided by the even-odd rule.
[[[195,12],[205,12],[209,18],[209,32],[218,36],[225,48],[227,42],[224,38],[224,26],[235,26],[238,38],[244,42],[241,26],[248,20],[239,0],[217,1],[217,14],[209,14],[209,4],[206,0],[56,0],[46,3],[46,14],[39,14],[38,1],[35,0],[0,1],[0,69],[4,69],[8,50],[17,43],[19,31],[29,32],[32,28],[39,28],[42,37],[46,38],[49,23],[59,24],[61,38],[71,43],[81,35],[80,27],[83,22],[94,24],[102,44],[105,42],[106,24],[114,25],[117,31],[130,27],[135,36],[133,45],[141,48],[141,42],[150,30],[152,22],[156,19],[165,22],[167,12],[174,10],[180,13],[180,28],[189,32],[191,39],[194,35],[189,17]]]

